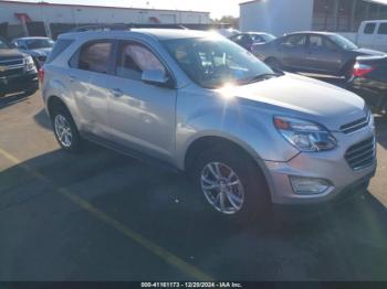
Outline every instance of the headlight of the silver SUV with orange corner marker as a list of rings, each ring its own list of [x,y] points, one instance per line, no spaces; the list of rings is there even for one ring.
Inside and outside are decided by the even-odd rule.
[[[274,126],[300,151],[326,151],[336,148],[337,141],[323,126],[290,117],[274,117]]]

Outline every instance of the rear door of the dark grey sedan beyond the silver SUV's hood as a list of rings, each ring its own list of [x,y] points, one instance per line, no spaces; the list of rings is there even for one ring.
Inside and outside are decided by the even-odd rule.
[[[306,35],[294,34],[285,36],[279,43],[280,62],[290,68],[304,69],[307,67],[305,60],[306,53]]]

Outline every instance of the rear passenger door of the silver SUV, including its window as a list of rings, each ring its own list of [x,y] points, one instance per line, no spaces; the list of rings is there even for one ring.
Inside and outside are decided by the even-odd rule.
[[[70,61],[65,75],[80,113],[82,129],[100,137],[108,136],[108,92],[104,78],[112,73],[114,39],[84,43]]]

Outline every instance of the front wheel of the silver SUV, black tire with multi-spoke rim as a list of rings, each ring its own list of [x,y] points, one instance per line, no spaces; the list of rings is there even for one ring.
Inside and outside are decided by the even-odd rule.
[[[253,221],[271,210],[261,170],[239,149],[218,146],[202,152],[196,158],[191,174],[207,207],[227,218]]]

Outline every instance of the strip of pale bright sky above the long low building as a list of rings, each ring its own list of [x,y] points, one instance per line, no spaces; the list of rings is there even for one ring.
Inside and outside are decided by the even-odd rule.
[[[25,2],[39,2],[38,0],[20,0]],[[101,4],[117,7],[156,8],[209,11],[211,18],[222,15],[239,15],[239,2],[247,0],[44,0],[50,3],[71,4]],[[387,0],[386,0],[387,1]]]

